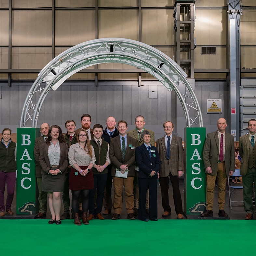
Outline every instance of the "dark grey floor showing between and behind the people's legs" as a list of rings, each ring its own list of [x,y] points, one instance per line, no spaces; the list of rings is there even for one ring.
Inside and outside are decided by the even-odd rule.
[[[233,186],[241,186],[241,184],[236,184],[236,183],[232,183],[232,180],[230,180],[230,185]],[[113,191],[113,187],[112,187],[112,191]],[[181,195],[182,195],[182,203],[183,203],[183,208],[184,208],[184,179],[180,179],[180,191],[181,191]],[[16,193],[16,192],[15,192]],[[125,193],[123,191],[123,193]],[[5,193],[5,197],[6,197]],[[114,195],[114,193],[113,193]],[[174,210],[174,204],[173,204],[173,199],[172,199],[172,187],[171,187],[171,183],[169,182],[169,203],[172,209],[171,212],[171,216],[170,217],[162,217],[162,214],[164,213],[163,208],[162,208],[162,202],[161,202],[161,189],[160,189],[160,185],[158,182],[158,190],[157,190],[157,198],[158,198],[158,219],[176,219],[177,215],[175,214],[175,210]],[[232,193],[232,200],[237,200],[237,201],[242,201],[243,200],[243,190],[242,189],[236,189],[233,193]],[[70,201],[71,201],[71,192],[70,192]],[[225,212],[229,215],[230,219],[233,220],[243,220],[246,212],[244,211],[244,207],[243,207],[243,202],[238,202],[238,203],[233,203],[233,204],[240,204],[242,206],[232,206],[232,209],[230,209],[229,207],[229,193],[228,193],[228,185],[226,186],[226,203],[225,203]],[[218,187],[217,185],[215,185],[215,189],[214,189],[214,207],[213,207],[213,218],[211,219],[215,219],[215,218],[219,218],[218,216]],[[26,216],[26,215],[16,215],[16,194],[14,195],[14,200],[12,203],[12,208],[11,208],[14,212],[14,215],[5,215],[4,217],[0,217],[1,219],[25,219],[25,218],[34,218],[33,216]],[[103,209],[104,210],[104,209]],[[112,214],[113,214],[113,210],[112,210]],[[63,213],[63,205],[61,208],[61,214]],[[111,219],[112,218],[112,214],[109,215],[104,215],[105,219]],[[187,215],[188,219],[201,219],[200,216],[194,216],[194,215]],[[44,219],[50,219],[51,218],[51,214],[48,211],[47,212],[47,216]],[[127,213],[126,213],[126,209],[125,209],[125,200],[123,202],[123,210],[122,210],[122,214],[121,214],[121,219],[127,219]]]

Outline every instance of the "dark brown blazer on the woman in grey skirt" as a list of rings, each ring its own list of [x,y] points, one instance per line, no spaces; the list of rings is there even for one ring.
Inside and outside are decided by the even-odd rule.
[[[44,143],[40,149],[39,155],[39,163],[42,167],[41,174],[45,175],[48,174],[48,171],[51,169],[50,161],[48,158],[48,148],[49,145]],[[65,142],[60,142],[60,149],[61,149],[61,156],[60,156],[60,163],[59,169],[62,173],[65,173],[68,168],[68,145]]]

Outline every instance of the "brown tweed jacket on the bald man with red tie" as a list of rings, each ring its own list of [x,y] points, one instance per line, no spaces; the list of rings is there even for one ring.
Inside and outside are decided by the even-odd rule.
[[[235,144],[234,137],[225,132],[226,143],[225,143],[225,169],[226,175],[229,175],[229,171],[235,171]],[[212,175],[217,174],[218,161],[219,161],[219,137],[218,131],[214,131],[207,134],[204,151],[204,167],[211,167]],[[205,171],[206,172],[206,171]]]

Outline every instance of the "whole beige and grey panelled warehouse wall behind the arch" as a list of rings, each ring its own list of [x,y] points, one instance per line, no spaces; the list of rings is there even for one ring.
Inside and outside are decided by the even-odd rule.
[[[19,126],[22,106],[37,78],[34,69],[42,69],[64,50],[102,37],[124,37],[139,40],[139,0],[55,0],[55,20],[52,24],[52,0],[12,0],[12,26],[9,27],[9,0],[0,1],[0,128]],[[173,29],[174,0],[141,0],[141,41],[156,47],[173,59],[175,31]],[[256,67],[256,4],[243,0],[241,16],[241,67]],[[225,69],[226,63],[226,0],[195,1],[195,69]],[[54,25],[54,26],[53,26]],[[54,33],[52,32],[54,27]],[[10,40],[11,33],[11,40]],[[97,35],[97,36],[96,36]],[[216,54],[201,54],[201,47],[214,46]],[[54,56],[52,56],[54,52]],[[95,67],[90,67],[95,68]],[[124,64],[100,64],[97,68],[133,68]],[[4,70],[27,69],[27,73],[8,76]],[[255,77],[242,73],[241,77]],[[146,126],[162,136],[162,123],[171,119],[174,133],[183,138],[185,119],[180,102],[149,74],[108,73],[74,74],[57,91],[51,91],[38,118],[42,122],[64,126],[72,118],[79,127],[80,116],[89,113],[92,124],[104,124],[114,115],[134,127],[136,115],[144,115]],[[8,79],[11,86],[8,86]],[[207,132],[216,130],[219,117],[228,119],[228,87],[225,73],[195,73],[195,93],[201,105]],[[157,98],[149,92],[157,91]],[[206,99],[222,99],[222,114],[207,114]],[[158,136],[158,135],[157,135]]]

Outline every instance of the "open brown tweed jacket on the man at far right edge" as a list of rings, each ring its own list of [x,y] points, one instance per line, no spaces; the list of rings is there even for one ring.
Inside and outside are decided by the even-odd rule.
[[[247,174],[248,162],[249,162],[249,146],[251,146],[251,143],[249,140],[249,133],[248,133],[239,138],[238,150],[239,150],[239,155],[242,158],[241,166],[240,166],[240,174],[241,175]]]

